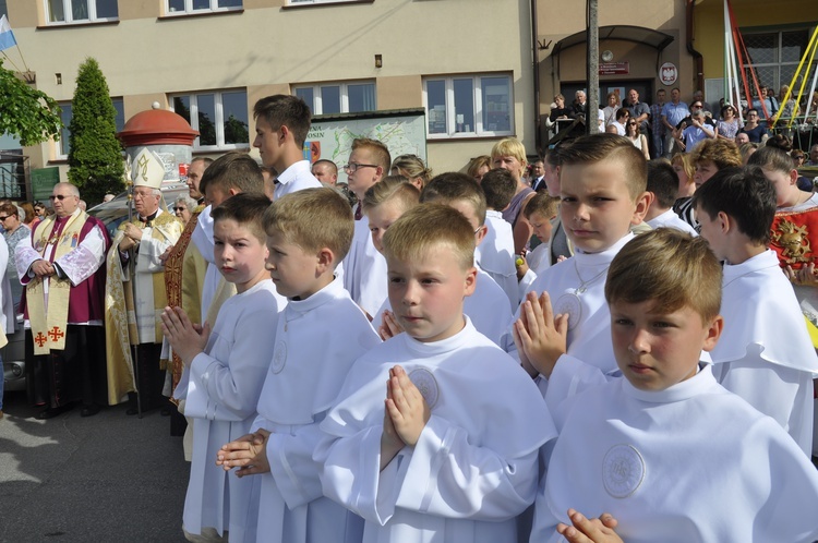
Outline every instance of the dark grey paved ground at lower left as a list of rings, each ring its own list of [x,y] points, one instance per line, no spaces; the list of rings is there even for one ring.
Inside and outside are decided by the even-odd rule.
[[[189,464],[158,411],[124,406],[34,418],[7,393],[0,420],[0,542],[181,542]]]

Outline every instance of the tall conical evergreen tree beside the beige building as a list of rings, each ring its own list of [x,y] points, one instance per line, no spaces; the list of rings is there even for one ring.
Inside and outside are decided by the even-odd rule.
[[[72,108],[69,180],[89,204],[101,202],[107,193],[124,189],[124,162],[117,140],[117,110],[93,58],[80,65]]]

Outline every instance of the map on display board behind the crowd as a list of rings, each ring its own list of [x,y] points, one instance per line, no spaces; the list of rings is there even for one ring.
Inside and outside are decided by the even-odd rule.
[[[352,141],[370,137],[383,142],[392,158],[417,155],[426,159],[426,129],[423,110],[378,111],[376,114],[316,116],[304,142],[304,158],[314,162],[328,159],[338,167],[338,182],[346,183],[342,166],[349,160]]]

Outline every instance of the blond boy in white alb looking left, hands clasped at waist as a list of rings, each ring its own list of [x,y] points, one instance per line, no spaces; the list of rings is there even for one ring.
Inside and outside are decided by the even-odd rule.
[[[334,272],[352,240],[352,213],[333,189],[276,200],[264,215],[267,269],[288,299],[252,434],[216,457],[239,476],[257,474],[258,541],[360,541],[361,519],[323,497],[312,454],[318,425],[352,362],[381,340]]]

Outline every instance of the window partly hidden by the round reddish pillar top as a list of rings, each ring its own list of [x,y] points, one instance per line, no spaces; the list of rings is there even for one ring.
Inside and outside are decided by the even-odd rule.
[[[197,150],[250,147],[246,90],[219,90],[171,96],[170,107],[184,117],[199,137]]]

